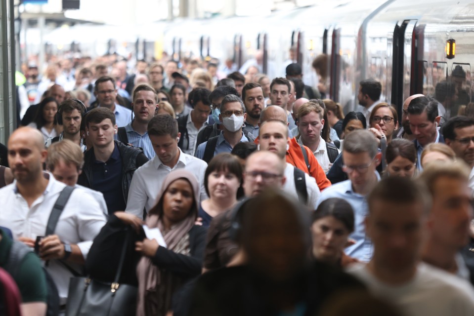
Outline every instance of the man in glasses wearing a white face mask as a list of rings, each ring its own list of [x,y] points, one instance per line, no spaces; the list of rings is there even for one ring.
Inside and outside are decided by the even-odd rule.
[[[220,105],[219,115],[224,129],[218,136],[211,137],[199,145],[194,156],[209,162],[217,154],[230,153],[238,143],[248,142],[249,139],[242,132],[246,118],[242,99],[235,95],[226,95]]]

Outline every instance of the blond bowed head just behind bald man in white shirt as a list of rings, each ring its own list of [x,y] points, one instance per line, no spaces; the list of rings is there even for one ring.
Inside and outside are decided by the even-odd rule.
[[[54,179],[74,187],[83,165],[84,154],[78,144],[63,139],[49,145],[46,169],[53,174]]]

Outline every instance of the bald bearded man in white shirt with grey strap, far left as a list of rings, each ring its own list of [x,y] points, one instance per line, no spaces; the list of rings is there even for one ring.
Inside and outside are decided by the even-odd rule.
[[[20,127],[10,136],[8,163],[16,183],[0,189],[0,223],[12,231],[14,239],[32,248],[40,239],[38,255],[49,261],[46,269],[58,288],[60,305],[64,305],[73,274],[58,259],[80,273],[92,240],[106,219],[97,201],[75,188],[69,198],[63,195],[67,202],[61,216],[54,231],[45,236],[53,206],[66,188],[52,174],[43,173],[46,158],[43,136],[37,129]]]

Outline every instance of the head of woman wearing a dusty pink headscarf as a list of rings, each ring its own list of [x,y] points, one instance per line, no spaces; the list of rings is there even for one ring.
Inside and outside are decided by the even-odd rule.
[[[161,221],[171,225],[189,218],[190,224],[194,224],[198,216],[199,183],[191,172],[182,168],[170,172],[157,197],[158,202],[148,216],[157,215]]]

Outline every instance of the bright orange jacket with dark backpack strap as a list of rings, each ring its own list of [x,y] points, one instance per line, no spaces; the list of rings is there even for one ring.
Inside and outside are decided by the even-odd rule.
[[[256,144],[259,143],[258,137],[255,140],[255,143]],[[314,154],[311,152],[311,150],[307,148],[306,146],[303,146],[303,147],[306,150],[306,154],[308,156],[309,170],[304,161],[300,144],[298,144],[296,138],[290,139],[290,149],[286,151],[286,162],[291,163],[295,167],[303,170],[304,172],[309,174],[311,177],[316,179],[316,183],[319,187],[319,190],[323,191],[327,187],[331,186],[331,181],[329,181],[328,178],[326,177],[326,173],[324,173],[323,168],[321,168],[318,160],[316,160],[316,157],[314,157]]]

